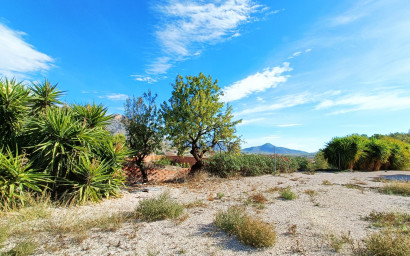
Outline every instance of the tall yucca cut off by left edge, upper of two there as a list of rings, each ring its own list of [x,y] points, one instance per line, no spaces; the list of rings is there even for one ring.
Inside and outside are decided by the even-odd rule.
[[[0,145],[14,146],[29,111],[29,90],[15,79],[0,79]]]

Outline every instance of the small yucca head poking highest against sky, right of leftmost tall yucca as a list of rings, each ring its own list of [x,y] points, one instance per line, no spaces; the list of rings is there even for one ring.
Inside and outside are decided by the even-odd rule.
[[[32,98],[31,109],[34,113],[40,113],[47,108],[61,104],[58,99],[64,92],[57,89],[57,84],[52,85],[47,79],[43,83],[32,82],[33,87],[30,88]]]

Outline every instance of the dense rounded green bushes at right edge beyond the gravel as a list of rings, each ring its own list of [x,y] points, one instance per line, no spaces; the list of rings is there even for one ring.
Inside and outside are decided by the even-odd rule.
[[[410,144],[384,135],[337,137],[327,143],[323,153],[331,165],[342,170],[401,170],[410,166]]]

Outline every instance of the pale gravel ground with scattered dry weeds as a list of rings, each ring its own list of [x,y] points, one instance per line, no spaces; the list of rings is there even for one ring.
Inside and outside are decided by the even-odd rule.
[[[237,179],[209,178],[201,182],[146,186],[124,191],[118,199],[98,205],[54,209],[56,221],[71,214],[76,218],[95,218],[116,212],[133,212],[141,199],[155,197],[163,191],[180,203],[202,200],[204,205],[184,210],[178,220],[157,222],[131,221],[113,232],[92,231],[73,242],[70,237],[41,233],[38,255],[339,255],[329,246],[329,235],[350,235],[363,239],[369,222],[362,220],[372,211],[398,211],[410,214],[410,197],[384,195],[376,191],[383,183],[374,179],[382,175],[410,175],[405,171],[342,172],[264,175]],[[328,180],[333,185],[323,185]],[[345,184],[356,184],[347,188]],[[279,198],[269,189],[290,186],[297,195],[294,201]],[[275,189],[273,189],[275,190]],[[314,190],[311,197],[306,190]],[[217,194],[222,199],[217,198]],[[218,230],[213,221],[219,210],[246,205],[250,195],[263,193],[268,199],[265,209],[246,206],[249,215],[275,225],[277,241],[267,249],[253,249]],[[295,234],[289,233],[294,226]],[[10,245],[12,246],[12,245]]]

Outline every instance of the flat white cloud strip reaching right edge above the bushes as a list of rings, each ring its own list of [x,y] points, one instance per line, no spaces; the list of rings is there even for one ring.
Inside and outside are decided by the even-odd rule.
[[[337,99],[320,102],[315,109],[338,107],[331,114],[344,114],[354,111],[396,111],[410,109],[410,96],[401,90],[377,91],[376,93],[355,93],[341,95]]]

